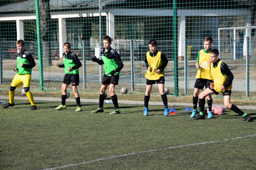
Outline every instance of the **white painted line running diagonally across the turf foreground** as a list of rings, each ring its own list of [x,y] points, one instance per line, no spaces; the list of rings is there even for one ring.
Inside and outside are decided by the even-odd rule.
[[[70,167],[70,166],[78,166],[78,165],[82,165],[82,164],[88,164],[88,163],[97,162],[97,161],[100,161],[100,160],[108,160],[108,159],[120,158],[120,157],[135,155],[135,154],[158,152],[158,151],[162,151],[162,150],[183,148],[183,147],[196,146],[196,145],[201,145],[201,144],[217,143],[217,142],[223,142],[223,141],[228,141],[228,140],[237,140],[237,139],[249,138],[249,137],[253,137],[253,136],[256,136],[256,134],[240,136],[240,137],[236,137],[236,138],[227,138],[227,139],[222,139],[222,140],[214,140],[214,141],[209,141],[209,142],[200,142],[200,143],[193,143],[193,144],[184,144],[184,145],[180,145],[180,146],[171,146],[171,147],[168,147],[168,148],[159,148],[159,149],[152,149],[152,150],[146,150],[146,151],[140,151],[140,152],[132,152],[132,153],[116,155],[116,156],[108,156],[108,157],[105,157],[105,158],[98,158],[98,159],[88,160],[88,161],[84,161],[84,162],[80,162],[80,163],[63,165],[63,166],[58,166],[58,167],[53,167],[53,168],[46,168],[46,169],[42,169],[42,170],[55,170],[55,169],[60,169],[60,168],[67,168],[67,167]]]

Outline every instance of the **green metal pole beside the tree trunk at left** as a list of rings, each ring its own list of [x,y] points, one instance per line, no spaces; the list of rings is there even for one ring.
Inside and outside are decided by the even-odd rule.
[[[39,0],[36,0],[36,31],[37,31],[37,47],[38,47],[38,66],[39,66],[39,83],[40,91],[44,91],[44,69],[43,69],[43,45],[41,41],[40,32],[40,14],[39,14]]]

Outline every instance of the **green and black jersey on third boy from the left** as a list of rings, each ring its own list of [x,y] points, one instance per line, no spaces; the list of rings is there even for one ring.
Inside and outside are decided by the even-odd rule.
[[[100,57],[99,64],[104,64],[105,68],[105,74],[108,76],[111,76],[110,72],[113,70],[116,70],[115,75],[120,75],[121,69],[124,67],[124,64],[122,62],[122,59],[120,58],[120,55],[115,49],[110,49],[105,52],[105,48],[103,48],[100,51]]]

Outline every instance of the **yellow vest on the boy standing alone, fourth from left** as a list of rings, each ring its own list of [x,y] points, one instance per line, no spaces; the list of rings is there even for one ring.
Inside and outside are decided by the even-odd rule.
[[[158,53],[154,57],[151,57],[149,53],[150,51],[147,52],[146,57],[148,65],[151,67],[151,70],[147,70],[145,77],[149,80],[158,80],[160,79],[160,77],[164,77],[164,70],[161,71],[159,74],[155,72],[163,64],[161,61],[161,51],[158,51]]]

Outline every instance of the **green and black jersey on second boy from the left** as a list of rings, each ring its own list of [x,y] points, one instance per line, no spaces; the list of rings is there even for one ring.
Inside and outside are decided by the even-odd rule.
[[[69,51],[66,55],[65,53],[62,54],[62,61],[63,64],[58,65],[60,68],[65,67],[65,74],[79,74],[79,67],[82,66],[82,63],[78,59],[75,53]],[[72,71],[69,72],[68,70],[72,67]]]

